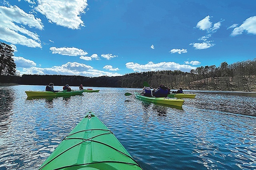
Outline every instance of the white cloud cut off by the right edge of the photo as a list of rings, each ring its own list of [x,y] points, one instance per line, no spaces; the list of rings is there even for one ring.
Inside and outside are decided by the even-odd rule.
[[[236,27],[232,31],[231,35],[236,36],[236,35],[242,34],[243,31],[247,31],[247,33],[256,34],[256,16],[252,16],[250,18],[247,18],[242,23],[242,25],[240,25],[239,27]]]

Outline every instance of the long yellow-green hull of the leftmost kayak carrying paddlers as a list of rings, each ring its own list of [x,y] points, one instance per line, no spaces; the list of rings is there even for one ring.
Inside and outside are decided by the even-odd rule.
[[[72,91],[72,92],[48,92],[48,91],[25,91],[28,97],[63,97],[63,96],[74,96],[81,95],[83,90]]]

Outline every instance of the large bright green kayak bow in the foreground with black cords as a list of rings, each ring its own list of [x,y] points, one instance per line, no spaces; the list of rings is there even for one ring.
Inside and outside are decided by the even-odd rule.
[[[115,135],[89,112],[39,170],[142,170]]]

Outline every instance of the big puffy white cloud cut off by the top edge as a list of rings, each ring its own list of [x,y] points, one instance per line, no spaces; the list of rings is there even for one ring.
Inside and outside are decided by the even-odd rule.
[[[84,26],[81,14],[85,13],[87,0],[38,0],[36,10],[57,25],[71,29]]]

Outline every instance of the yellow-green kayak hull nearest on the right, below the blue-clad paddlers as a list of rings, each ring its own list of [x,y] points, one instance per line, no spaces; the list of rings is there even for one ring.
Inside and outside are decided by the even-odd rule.
[[[184,100],[181,100],[181,99],[147,97],[137,93],[135,93],[135,97],[140,100],[144,100],[144,101],[148,101],[156,104],[170,105],[170,106],[181,107],[184,103]]]

